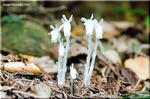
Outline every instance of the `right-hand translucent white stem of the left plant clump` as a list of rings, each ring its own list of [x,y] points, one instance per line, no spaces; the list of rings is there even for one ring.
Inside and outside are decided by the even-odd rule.
[[[69,50],[69,36],[66,37],[66,47],[65,47],[65,54],[63,59],[63,68],[62,68],[62,80],[63,83],[65,83],[65,75],[67,71],[67,56],[68,56],[68,50]]]

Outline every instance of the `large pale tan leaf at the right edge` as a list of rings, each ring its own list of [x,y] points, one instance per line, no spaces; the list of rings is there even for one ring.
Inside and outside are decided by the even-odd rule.
[[[124,65],[135,72],[140,79],[146,80],[150,78],[149,59],[147,57],[139,56],[134,59],[129,58],[124,62]]]

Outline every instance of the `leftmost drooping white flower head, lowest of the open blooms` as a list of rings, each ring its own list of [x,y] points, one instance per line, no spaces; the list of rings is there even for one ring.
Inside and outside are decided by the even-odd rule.
[[[52,31],[50,33],[48,33],[48,35],[51,35],[52,42],[57,42],[58,35],[59,35],[58,25],[55,25],[55,27],[53,25],[50,25],[50,28],[52,29]]]

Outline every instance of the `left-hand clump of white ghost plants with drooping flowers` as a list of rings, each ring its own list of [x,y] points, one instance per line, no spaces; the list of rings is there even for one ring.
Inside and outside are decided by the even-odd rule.
[[[65,15],[62,15],[62,25],[58,27],[57,25],[54,27],[53,25],[50,26],[52,31],[48,33],[51,35],[51,41],[56,43],[58,41],[58,84],[64,84],[65,83],[65,74],[67,70],[67,56],[68,56],[68,49],[69,49],[69,38],[71,34],[71,24],[72,21],[72,15],[67,20]],[[63,29],[64,36],[60,33],[61,29]],[[65,37],[66,42],[63,41],[63,38]]]

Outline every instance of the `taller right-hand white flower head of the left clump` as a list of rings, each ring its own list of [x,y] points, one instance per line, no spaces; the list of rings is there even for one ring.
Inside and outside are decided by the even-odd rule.
[[[72,15],[70,16],[69,20],[67,20],[65,15],[62,15],[61,22],[63,23],[62,28],[65,37],[70,36],[71,34],[71,24],[70,24],[71,21],[72,21]]]

